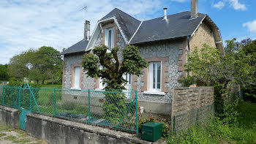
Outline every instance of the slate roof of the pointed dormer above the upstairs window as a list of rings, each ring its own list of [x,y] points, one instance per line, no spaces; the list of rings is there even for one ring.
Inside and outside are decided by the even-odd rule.
[[[127,13],[118,10],[115,8],[111,12],[108,13],[108,15],[105,15],[101,20],[106,20],[108,18],[115,17],[119,26],[121,27],[121,30],[124,33],[124,36],[129,39],[132,37],[132,35],[135,33],[135,31],[138,29],[138,26],[140,26],[141,21],[137,20],[136,18],[133,18],[132,16],[128,15]]]

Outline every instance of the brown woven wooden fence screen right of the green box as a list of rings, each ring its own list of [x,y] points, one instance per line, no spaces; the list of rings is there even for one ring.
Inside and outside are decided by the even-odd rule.
[[[173,89],[171,124],[174,134],[181,134],[195,124],[214,118],[214,87]]]

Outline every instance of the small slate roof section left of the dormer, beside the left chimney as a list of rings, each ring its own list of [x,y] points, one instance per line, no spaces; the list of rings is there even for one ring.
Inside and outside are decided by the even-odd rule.
[[[88,40],[81,40],[80,42],[76,43],[75,45],[72,45],[71,47],[67,48],[67,50],[64,50],[61,55],[65,55],[68,53],[79,53],[86,51],[86,46],[88,45]]]

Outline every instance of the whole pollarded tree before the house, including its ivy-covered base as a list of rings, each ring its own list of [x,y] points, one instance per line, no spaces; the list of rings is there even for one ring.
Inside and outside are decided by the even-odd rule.
[[[107,53],[108,47],[103,45],[96,47],[83,57],[82,66],[89,77],[102,77],[103,84],[106,84],[106,91],[117,91],[119,93],[105,93],[103,110],[105,118],[113,123],[121,120],[127,110],[125,96],[121,93],[127,80],[123,75],[142,75],[141,70],[148,67],[135,46],[127,46],[121,50],[122,61],[118,59],[119,48],[113,48]],[[99,69],[99,64],[103,69]]]

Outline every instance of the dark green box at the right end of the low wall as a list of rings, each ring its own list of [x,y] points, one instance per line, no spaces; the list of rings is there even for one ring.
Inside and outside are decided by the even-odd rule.
[[[162,124],[148,122],[141,125],[141,139],[155,142],[162,137]]]

